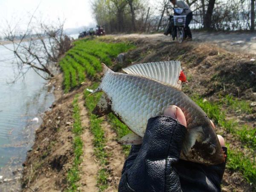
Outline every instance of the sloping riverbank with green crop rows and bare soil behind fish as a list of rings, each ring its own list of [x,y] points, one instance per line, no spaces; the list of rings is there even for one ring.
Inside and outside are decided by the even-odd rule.
[[[126,52],[123,63],[115,59],[121,52]],[[24,162],[23,191],[117,191],[129,149],[116,141],[128,129],[112,115],[96,119],[91,111],[100,94],[88,94],[102,76],[101,62],[121,71],[130,64],[166,60],[181,61],[189,80],[183,91],[207,112],[217,133],[226,140],[229,157],[222,190],[253,191],[253,57],[212,44],[176,44],[144,37],[106,36],[76,41],[60,61],[63,74],[56,77],[56,101],[36,132],[35,144]],[[82,128],[79,135],[74,131],[77,121]]]

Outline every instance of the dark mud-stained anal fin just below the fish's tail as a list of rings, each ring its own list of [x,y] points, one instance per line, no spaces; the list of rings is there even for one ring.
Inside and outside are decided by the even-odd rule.
[[[93,109],[93,114],[98,117],[102,117],[111,112],[111,100],[108,99],[108,96],[103,93],[96,107]]]

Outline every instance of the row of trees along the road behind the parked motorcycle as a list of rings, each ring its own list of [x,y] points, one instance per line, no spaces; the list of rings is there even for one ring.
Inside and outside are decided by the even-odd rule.
[[[193,12],[191,27],[194,29],[255,29],[255,0],[184,1]],[[108,32],[157,31],[168,23],[168,15],[164,12],[167,2],[169,0],[155,0],[148,5],[145,0],[95,0],[93,10],[98,24],[105,25]],[[120,9],[122,3],[126,6]]]

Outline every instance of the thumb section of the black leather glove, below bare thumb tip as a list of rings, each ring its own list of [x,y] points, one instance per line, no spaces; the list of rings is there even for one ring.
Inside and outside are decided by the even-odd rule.
[[[125,162],[119,192],[180,191],[173,164],[180,158],[185,134],[186,128],[169,116],[149,119],[140,151],[133,147]]]

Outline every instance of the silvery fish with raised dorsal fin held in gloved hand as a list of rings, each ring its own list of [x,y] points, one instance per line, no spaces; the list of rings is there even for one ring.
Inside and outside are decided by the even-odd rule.
[[[105,64],[102,67],[101,83],[93,93],[103,94],[92,113],[101,117],[112,112],[128,126],[132,133],[119,143],[142,143],[148,119],[163,115],[167,106],[176,105],[187,123],[180,159],[205,165],[224,162],[224,152],[209,117],[178,83],[180,61],[135,64],[122,69],[125,73],[115,73]]]

